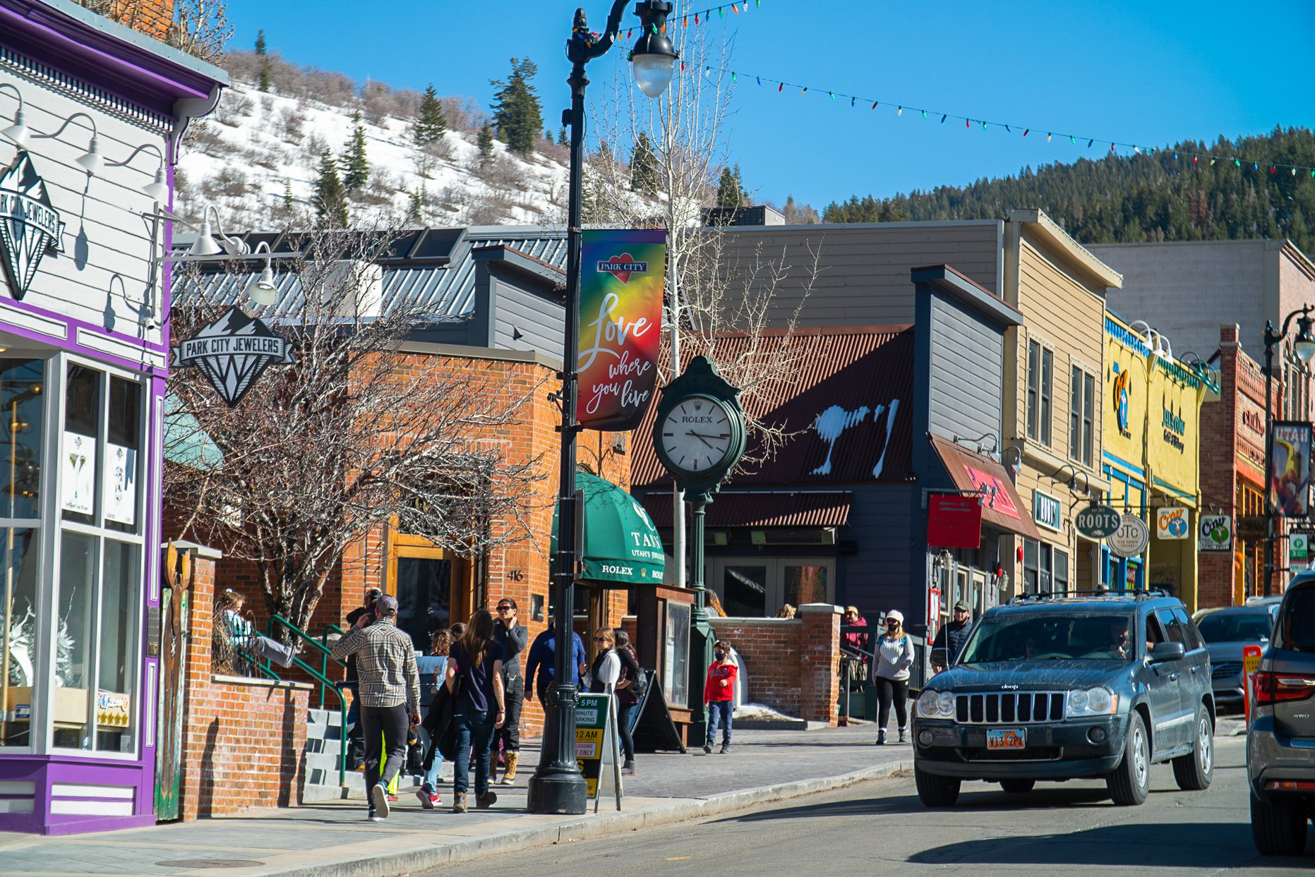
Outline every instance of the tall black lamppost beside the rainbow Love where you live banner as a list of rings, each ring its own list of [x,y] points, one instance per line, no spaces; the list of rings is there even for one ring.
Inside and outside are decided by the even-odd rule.
[[[543,728],[543,748],[539,767],[530,777],[526,810],[530,813],[585,811],[585,782],[576,763],[575,703],[576,675],[572,642],[575,619],[576,569],[576,380],[580,359],[580,176],[584,162],[584,88],[589,80],[584,66],[606,54],[621,34],[621,17],[629,0],[615,0],[608,26],[601,36],[590,34],[584,9],[576,9],[575,26],[567,41],[567,59],[571,62],[571,109],[562,113],[562,124],[571,126],[571,189],[567,213],[567,333],[562,355],[562,471],[558,489],[558,550],[552,555],[552,586],[556,607],[556,680],[548,693],[547,721]],[[658,97],[667,85],[676,66],[676,49],[667,38],[667,16],[671,4],[661,0],[640,0],[635,4],[640,33],[630,51],[635,84],[648,97]]]

